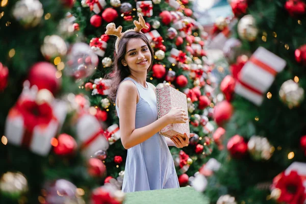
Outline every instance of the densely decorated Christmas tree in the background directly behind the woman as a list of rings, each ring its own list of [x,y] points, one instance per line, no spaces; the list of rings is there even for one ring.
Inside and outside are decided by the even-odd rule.
[[[126,150],[119,140],[119,121],[114,101],[108,99],[110,81],[105,77],[112,71],[116,38],[106,35],[105,31],[110,22],[117,27],[121,25],[122,31],[134,28],[133,20],[138,20],[139,13],[149,27],[142,32],[155,51],[154,65],[148,72],[147,81],[157,87],[170,85],[188,97],[190,132],[196,135],[182,150],[170,147],[181,186],[188,184],[188,175],[193,176],[211,154],[214,122],[210,120],[216,103],[213,95],[215,78],[212,66],[205,63],[207,33],[193,18],[191,5],[192,1],[188,0],[83,0],[77,1],[71,11],[84,34],[84,41],[101,60],[95,74],[84,81],[81,88],[91,93],[90,104],[96,108],[95,116],[110,144],[108,149],[96,149],[107,154],[104,160],[108,172],[106,182],[124,174]],[[122,185],[122,180],[117,179],[117,183]]]

